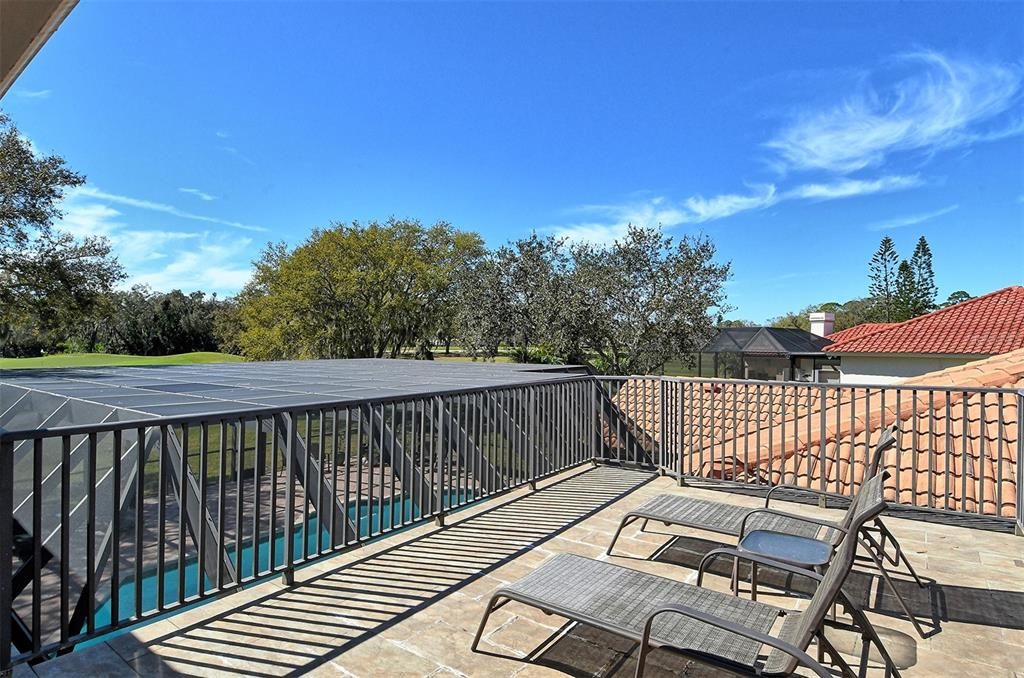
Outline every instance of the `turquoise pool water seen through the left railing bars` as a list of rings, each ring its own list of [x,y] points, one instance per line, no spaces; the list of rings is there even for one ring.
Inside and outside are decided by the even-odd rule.
[[[462,492],[452,492],[445,498],[444,506],[451,507],[453,504],[460,504],[461,502],[469,502],[474,499],[474,495],[470,491]],[[423,517],[422,512],[419,507],[409,499],[401,501],[391,501],[384,500],[384,510],[380,510],[381,506],[379,500],[375,500],[372,506],[366,506],[365,504],[358,507],[358,518],[356,519],[356,507],[351,507],[348,511],[349,519],[356,524],[358,528],[359,536],[366,538],[372,532],[380,532],[381,527],[387,527],[389,524],[397,525],[402,521],[412,522],[414,520],[419,520]],[[391,514],[391,520],[388,521],[388,513]],[[301,523],[295,526],[295,533],[293,536],[293,548],[296,555],[305,553],[307,555],[312,555],[317,551],[317,541],[319,541],[319,546],[323,549],[327,549],[330,546],[330,524],[319,524],[317,517],[310,516],[308,523],[302,525]],[[408,525],[412,526],[412,525]],[[386,536],[400,532],[402,528],[395,528],[389,531]],[[335,525],[335,529],[340,529],[340,525]],[[318,540],[317,540],[318,537]],[[230,558],[236,569],[239,571],[241,577],[249,577],[253,571],[253,559],[255,554],[259,554],[259,570],[261,573],[266,573],[270,567],[270,538],[269,536],[263,537],[259,541],[259,548],[254,548],[252,543],[244,545],[241,553],[241,568],[239,563],[236,562],[236,552],[234,549],[229,549],[227,556]],[[274,565],[281,566],[285,563],[286,548],[285,548],[285,535],[278,535],[274,539]],[[154,563],[155,564],[155,563]],[[177,560],[173,555],[169,555],[166,567],[164,570],[164,600],[165,605],[173,605],[178,600],[178,568]],[[190,597],[199,593],[199,577],[200,567],[199,561],[196,558],[190,558],[185,562],[185,591],[184,596]],[[151,573],[148,576],[142,579],[142,610],[152,611],[160,607],[158,604],[158,578],[156,573]],[[205,588],[209,590],[213,587],[213,582],[209,578],[204,576]],[[119,602],[118,602],[118,616],[121,618],[120,621],[126,621],[130,619],[135,612],[135,583],[134,581],[125,581],[121,584],[119,590]],[[198,602],[196,604],[202,604]],[[175,609],[179,611],[180,608]],[[109,626],[112,623],[113,606],[110,601],[106,601],[103,605],[96,608],[96,628],[100,629],[104,626]],[[101,639],[100,639],[101,640]],[[99,642],[100,640],[92,641]],[[90,643],[82,643],[79,647],[88,646]]]

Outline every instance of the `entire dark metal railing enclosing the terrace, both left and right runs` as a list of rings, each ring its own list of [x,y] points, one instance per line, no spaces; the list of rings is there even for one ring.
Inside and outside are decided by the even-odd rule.
[[[667,377],[0,432],[0,670],[584,463],[1020,526],[1024,391]]]

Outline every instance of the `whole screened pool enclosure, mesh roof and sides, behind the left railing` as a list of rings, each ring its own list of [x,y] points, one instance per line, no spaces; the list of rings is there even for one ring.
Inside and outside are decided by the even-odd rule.
[[[583,430],[567,389],[586,375],[377,359],[3,371],[11,643],[39,652],[554,470],[565,460],[524,446],[556,418]]]

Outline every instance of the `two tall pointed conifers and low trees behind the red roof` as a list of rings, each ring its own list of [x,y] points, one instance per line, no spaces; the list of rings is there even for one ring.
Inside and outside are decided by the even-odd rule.
[[[835,313],[838,332],[862,323],[901,323],[974,298],[957,290],[944,302],[938,302],[932,249],[924,236],[918,240],[910,258],[902,260],[893,239],[884,237],[868,263],[867,280],[864,297],[811,304],[773,317],[769,325],[810,330],[810,313],[824,311]]]

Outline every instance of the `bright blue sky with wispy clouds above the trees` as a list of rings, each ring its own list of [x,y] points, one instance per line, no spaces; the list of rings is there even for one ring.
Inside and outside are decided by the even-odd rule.
[[[943,298],[1024,282],[1019,2],[81,0],[0,107],[157,289],[389,215],[706,234],[759,322],[865,294],[884,235]]]

